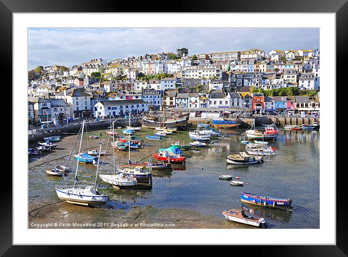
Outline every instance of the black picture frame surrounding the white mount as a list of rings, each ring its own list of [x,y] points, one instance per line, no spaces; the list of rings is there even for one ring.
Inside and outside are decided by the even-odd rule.
[[[133,5],[133,4],[132,4]],[[280,13],[335,13],[336,14],[336,67],[346,67],[344,61],[348,57],[348,2],[347,0],[292,0],[292,1],[245,1],[245,0],[215,0],[213,3],[209,0],[197,1],[179,1],[176,2],[173,8],[165,8],[162,2],[152,1],[151,4],[143,1],[136,4],[131,9],[136,9],[132,12],[280,12]],[[0,31],[1,31],[1,59],[3,64],[4,73],[7,74],[7,82],[12,84],[12,14],[13,13],[43,13],[43,12],[122,12],[124,10],[129,11],[130,5],[127,1],[117,1],[112,4],[96,4],[91,0],[1,0],[0,1]],[[154,27],[156,24],[154,24]],[[233,26],[233,24],[232,24]],[[339,53],[339,54],[337,54]],[[340,76],[341,75],[341,76]],[[336,71],[336,85],[345,85],[342,74]],[[6,88],[7,95],[14,95],[14,87],[18,85],[12,84],[12,91],[9,92],[9,88]],[[20,86],[20,85],[19,85]],[[333,86],[333,85],[330,85]],[[16,98],[13,98],[16,102]],[[336,97],[337,100],[337,97]],[[8,99],[11,104],[11,98]],[[344,102],[344,101],[341,101]],[[339,104],[337,102],[337,104]],[[10,105],[10,106],[11,106]],[[335,106],[332,105],[332,108]],[[338,105],[336,107],[338,111]],[[341,110],[341,109],[340,109]],[[342,109],[343,110],[343,109]],[[336,116],[338,118],[338,116]],[[11,118],[10,118],[11,119]],[[338,120],[338,119],[336,119]],[[9,126],[1,127],[1,135],[13,135],[11,124],[12,122],[6,120]],[[336,123],[337,124],[337,123]],[[336,125],[333,124],[333,125]],[[333,126],[337,127],[337,126]],[[12,146],[11,139],[8,140],[7,145]],[[332,138],[336,141],[336,138]],[[6,149],[9,151],[9,149]],[[12,152],[12,151],[11,151]],[[338,153],[338,149],[336,149]],[[16,156],[12,156],[13,161],[16,161]],[[337,160],[337,158],[336,158]],[[335,160],[335,162],[336,162]],[[332,160],[331,160],[332,161]],[[338,163],[337,163],[338,165]],[[343,195],[345,184],[347,181],[346,169],[340,170],[335,165],[332,166],[332,176],[334,177],[334,169],[336,168],[336,245],[266,245],[266,246],[233,246],[234,251],[241,249],[248,249],[246,254],[257,253],[258,256],[315,256],[315,257],[343,257],[348,255],[348,224],[345,222],[346,212],[345,206],[347,206],[344,197],[338,197]],[[2,172],[5,172],[4,169]],[[2,176],[2,199],[12,199],[12,174],[7,172],[7,177]],[[333,203],[327,203],[327,208],[333,208]],[[67,256],[67,253],[71,253],[72,246],[19,246],[12,245],[12,201],[2,200],[0,205],[0,255],[3,256]],[[334,212],[333,212],[334,213]],[[341,222],[342,221],[342,222]],[[115,240],[116,241],[116,240]],[[39,243],[39,242],[38,242]],[[285,244],[286,242],[284,242]],[[156,244],[156,240],[154,240]],[[270,242],[272,244],[272,242]],[[103,247],[104,254],[109,251],[109,246]],[[79,255],[87,254],[90,252],[91,246],[78,247]],[[75,248],[76,249],[76,248]],[[158,248],[157,248],[158,249]],[[204,250],[204,247],[202,248]],[[225,248],[226,249],[226,248]],[[171,252],[171,255],[175,254],[175,250]],[[52,254],[54,253],[54,254]],[[177,252],[178,254],[180,252]],[[235,252],[234,252],[235,253]],[[109,252],[109,254],[115,254],[115,252]],[[227,254],[230,254],[227,252]],[[71,255],[71,254],[70,254]]]

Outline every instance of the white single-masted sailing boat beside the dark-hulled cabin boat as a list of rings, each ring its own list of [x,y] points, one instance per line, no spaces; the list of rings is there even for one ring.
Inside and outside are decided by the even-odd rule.
[[[116,121],[116,120],[115,120]],[[112,130],[114,130],[114,122],[112,122]],[[115,144],[115,137],[112,138],[113,142],[111,145]],[[133,187],[137,185],[137,179],[128,176],[124,172],[115,171],[115,148],[113,147],[113,161],[114,161],[114,173],[113,174],[100,174],[99,177],[106,183],[110,184],[113,188],[118,189],[120,187]]]

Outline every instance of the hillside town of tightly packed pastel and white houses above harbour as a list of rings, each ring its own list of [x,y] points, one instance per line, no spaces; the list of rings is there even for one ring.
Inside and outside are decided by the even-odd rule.
[[[90,59],[28,72],[30,125],[154,110],[319,114],[320,51],[260,49]]]

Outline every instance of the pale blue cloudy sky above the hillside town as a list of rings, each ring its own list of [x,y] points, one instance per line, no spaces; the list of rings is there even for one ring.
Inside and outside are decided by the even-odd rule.
[[[319,28],[35,28],[28,30],[28,69],[102,58],[175,52],[309,50],[319,47]]]

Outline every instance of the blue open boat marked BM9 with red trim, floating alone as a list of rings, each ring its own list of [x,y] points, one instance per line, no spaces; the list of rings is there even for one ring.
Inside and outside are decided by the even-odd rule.
[[[241,201],[252,205],[277,209],[289,209],[291,208],[292,202],[292,200],[290,200],[289,198],[275,198],[244,192],[241,192]]]

